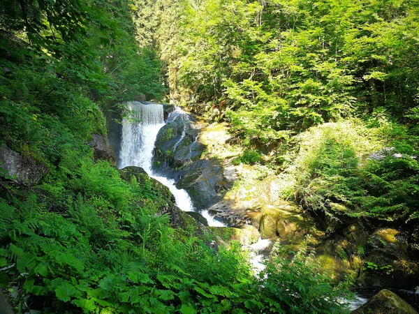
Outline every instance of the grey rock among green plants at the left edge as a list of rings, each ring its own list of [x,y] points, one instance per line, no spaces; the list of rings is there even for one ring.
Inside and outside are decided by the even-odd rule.
[[[50,172],[45,163],[36,160],[28,152],[20,154],[6,144],[0,147],[0,167],[6,170],[6,173],[0,173],[1,177],[8,175],[18,184],[29,186],[37,184]]]

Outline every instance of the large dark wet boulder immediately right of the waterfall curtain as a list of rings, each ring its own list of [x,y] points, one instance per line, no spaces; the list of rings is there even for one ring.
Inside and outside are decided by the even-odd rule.
[[[221,200],[228,184],[219,160],[208,156],[198,141],[198,127],[188,114],[174,112],[157,135],[153,168],[175,179],[196,209],[205,209]]]

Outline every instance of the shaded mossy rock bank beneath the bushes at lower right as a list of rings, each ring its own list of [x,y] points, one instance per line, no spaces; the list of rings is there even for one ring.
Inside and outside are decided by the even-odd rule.
[[[358,285],[403,289],[416,285],[419,265],[409,253],[409,232],[359,219],[329,234],[316,247],[318,260],[333,278],[350,274]]]

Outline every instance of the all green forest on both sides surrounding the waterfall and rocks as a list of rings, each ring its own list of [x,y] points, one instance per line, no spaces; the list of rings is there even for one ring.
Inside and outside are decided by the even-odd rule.
[[[357,221],[399,230],[418,278],[418,4],[0,1],[0,308],[350,313],[356,278],[321,271],[308,238],[274,244],[255,275],[167,188],[94,156],[92,136],[141,99],[226,124],[233,163],[274,173],[326,238]]]

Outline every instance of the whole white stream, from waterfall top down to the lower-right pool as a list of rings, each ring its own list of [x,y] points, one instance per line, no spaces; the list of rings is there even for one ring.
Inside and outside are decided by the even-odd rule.
[[[177,188],[174,179],[156,173],[152,169],[154,143],[159,130],[166,124],[163,118],[163,105],[132,101],[128,103],[128,109],[131,110],[131,117],[130,119],[124,119],[122,122],[122,142],[119,151],[118,168],[122,169],[127,166],[142,167],[149,177],[156,179],[169,188],[170,192],[175,196],[177,207],[183,211],[196,211],[186,190]],[[168,115],[167,121],[170,122],[176,119],[189,119],[189,114],[176,107]],[[182,135],[184,136],[184,133]],[[226,224],[214,219],[207,210],[200,211],[200,214],[207,219],[208,225],[226,227]],[[265,253],[269,246],[270,240],[267,239],[259,239],[255,244],[251,244],[249,248],[251,251],[251,264],[255,274],[265,269]],[[365,304],[367,299],[373,295],[370,295],[369,292],[369,290],[356,291],[355,299],[349,301],[349,308],[354,310]],[[417,304],[415,305],[417,306]]]

